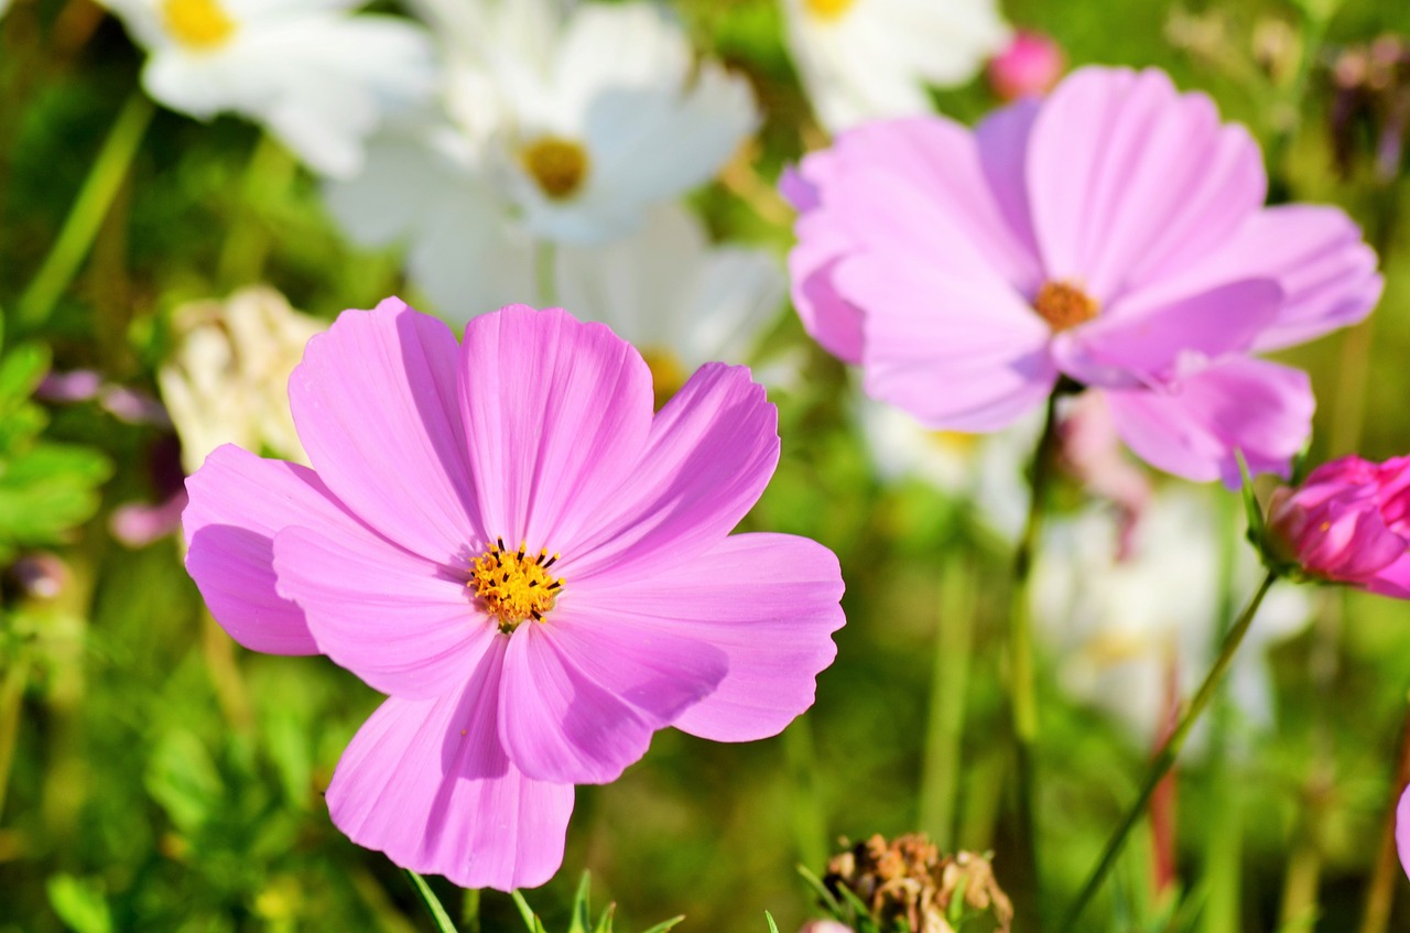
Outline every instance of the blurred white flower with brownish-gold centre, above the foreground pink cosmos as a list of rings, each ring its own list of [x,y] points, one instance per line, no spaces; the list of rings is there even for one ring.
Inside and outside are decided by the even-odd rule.
[[[364,245],[464,320],[530,293],[537,242],[594,245],[713,176],[759,121],[747,83],[698,62],[653,4],[420,0],[446,47],[446,120],[403,124],[327,186]],[[451,297],[454,296],[454,297]]]

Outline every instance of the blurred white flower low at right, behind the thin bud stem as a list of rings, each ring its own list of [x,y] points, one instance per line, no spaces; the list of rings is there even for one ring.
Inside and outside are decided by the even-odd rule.
[[[1194,693],[1217,654],[1220,534],[1213,495],[1182,488],[1155,495],[1129,554],[1118,560],[1120,520],[1093,507],[1049,523],[1034,568],[1034,619],[1052,647],[1063,686],[1115,716],[1144,747],[1159,737],[1170,692]],[[1234,599],[1252,595],[1262,569],[1238,547]],[[1300,589],[1275,588],[1230,668],[1227,689],[1251,727],[1272,722],[1266,653],[1300,631],[1311,606]],[[1200,741],[1196,727],[1194,743]]]

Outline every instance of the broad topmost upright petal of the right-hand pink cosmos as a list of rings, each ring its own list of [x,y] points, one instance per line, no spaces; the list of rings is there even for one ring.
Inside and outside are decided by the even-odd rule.
[[[1265,189],[1248,132],[1159,70],[1080,69],[1032,130],[1028,192],[1048,276],[1103,304],[1220,248]]]

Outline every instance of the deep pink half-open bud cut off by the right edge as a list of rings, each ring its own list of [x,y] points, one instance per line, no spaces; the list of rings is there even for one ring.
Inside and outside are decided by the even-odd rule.
[[[1410,599],[1410,457],[1342,457],[1268,507],[1277,557],[1313,576]]]

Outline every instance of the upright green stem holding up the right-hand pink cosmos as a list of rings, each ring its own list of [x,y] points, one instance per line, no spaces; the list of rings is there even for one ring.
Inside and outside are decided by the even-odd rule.
[[[1042,437],[1034,451],[1032,499],[1028,502],[1028,520],[1024,534],[1014,552],[1014,591],[1010,609],[1010,676],[1011,713],[1014,727],[1014,757],[1018,772],[1018,836],[1022,840],[1026,858],[1029,888],[1041,889],[1038,870],[1038,827],[1034,820],[1034,746],[1038,741],[1038,691],[1034,669],[1034,617],[1032,617],[1032,571],[1038,538],[1042,534],[1048,486],[1052,479],[1053,459],[1058,452],[1058,397],[1055,390],[1048,397],[1048,414]]]

